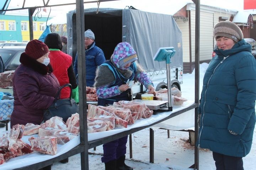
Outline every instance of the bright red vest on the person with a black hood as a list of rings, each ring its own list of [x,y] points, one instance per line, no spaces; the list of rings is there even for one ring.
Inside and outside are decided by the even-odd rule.
[[[53,74],[58,79],[60,86],[69,83],[68,68],[72,64],[72,57],[57,49],[50,49],[50,64]],[[64,87],[60,92],[60,98],[69,98],[70,88]]]

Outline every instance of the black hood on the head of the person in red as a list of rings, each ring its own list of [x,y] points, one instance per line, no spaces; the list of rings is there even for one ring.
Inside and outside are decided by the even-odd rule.
[[[48,46],[49,49],[59,49],[62,50],[62,41],[59,34],[50,33],[46,36],[44,43]]]

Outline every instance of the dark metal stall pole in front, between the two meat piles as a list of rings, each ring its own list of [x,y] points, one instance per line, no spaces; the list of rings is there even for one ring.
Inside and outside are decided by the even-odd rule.
[[[76,0],[76,42],[78,53],[80,143],[85,148],[85,151],[81,152],[81,170],[89,170],[84,28],[84,2],[81,0]]]

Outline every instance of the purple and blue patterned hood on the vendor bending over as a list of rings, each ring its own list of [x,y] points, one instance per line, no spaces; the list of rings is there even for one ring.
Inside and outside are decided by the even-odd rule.
[[[113,62],[117,68],[123,69],[126,64],[137,59],[136,52],[128,42],[120,42],[114,49]]]

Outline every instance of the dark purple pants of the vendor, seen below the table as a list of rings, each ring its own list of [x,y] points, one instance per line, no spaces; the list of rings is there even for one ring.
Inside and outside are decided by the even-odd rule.
[[[125,155],[127,138],[128,136],[124,136],[118,140],[103,144],[103,157],[101,158],[101,162],[107,163]]]

